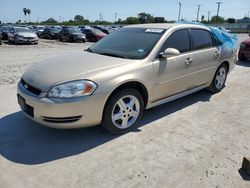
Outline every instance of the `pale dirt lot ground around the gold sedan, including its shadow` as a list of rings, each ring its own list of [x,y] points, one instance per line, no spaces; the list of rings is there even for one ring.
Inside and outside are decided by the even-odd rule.
[[[26,118],[16,100],[22,73],[89,45],[0,46],[0,187],[250,187],[239,171],[250,156],[250,62],[238,62],[222,92],[148,110],[123,136],[100,127],[55,130]]]

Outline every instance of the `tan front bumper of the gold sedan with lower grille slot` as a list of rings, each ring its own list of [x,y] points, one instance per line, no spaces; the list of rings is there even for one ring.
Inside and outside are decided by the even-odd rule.
[[[62,129],[100,124],[107,99],[105,94],[72,99],[49,99],[45,97],[44,93],[35,96],[20,82],[17,93],[24,99],[25,105],[28,107],[28,110],[22,107],[21,109],[29,118],[42,125]]]

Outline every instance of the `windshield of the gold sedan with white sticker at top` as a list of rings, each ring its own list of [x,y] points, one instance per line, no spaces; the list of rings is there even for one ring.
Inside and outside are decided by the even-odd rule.
[[[126,59],[148,56],[165,29],[123,28],[103,38],[87,51]]]

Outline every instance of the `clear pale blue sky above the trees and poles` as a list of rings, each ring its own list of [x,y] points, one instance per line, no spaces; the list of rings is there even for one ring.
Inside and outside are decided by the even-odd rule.
[[[98,20],[100,13],[104,20],[114,21],[117,18],[126,19],[137,16],[140,12],[147,12],[153,16],[163,16],[166,20],[177,20],[178,2],[182,3],[181,18],[196,20],[197,5],[200,7],[200,16],[216,15],[217,4],[222,2],[220,15],[229,18],[243,18],[250,11],[249,0],[0,0],[0,21],[24,21],[23,8],[31,10],[32,22],[45,21],[54,18],[58,21],[73,19],[76,14],[84,16],[90,21]]]

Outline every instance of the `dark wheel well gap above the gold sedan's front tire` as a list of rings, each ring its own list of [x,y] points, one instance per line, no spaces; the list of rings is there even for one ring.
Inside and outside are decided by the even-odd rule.
[[[140,94],[141,96],[143,97],[143,101],[144,101],[144,104],[145,104],[145,107],[148,103],[148,91],[146,89],[146,87],[140,83],[140,82],[136,82],[136,81],[133,81],[133,82],[127,82],[127,83],[124,83],[122,85],[120,85],[119,87],[117,87],[109,96],[108,100],[110,99],[111,96],[113,96],[115,93],[117,93],[118,91],[122,90],[122,89],[125,89],[125,88],[133,88],[133,89],[136,89]],[[107,103],[107,102],[106,102]],[[105,104],[106,105],[106,104]]]

